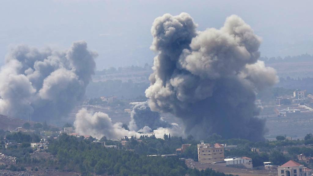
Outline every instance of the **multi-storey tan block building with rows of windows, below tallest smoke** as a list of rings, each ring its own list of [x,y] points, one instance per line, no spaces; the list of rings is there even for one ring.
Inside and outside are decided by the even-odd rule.
[[[201,144],[198,144],[198,160],[200,163],[224,161],[224,146],[219,143],[211,146],[201,142]]]

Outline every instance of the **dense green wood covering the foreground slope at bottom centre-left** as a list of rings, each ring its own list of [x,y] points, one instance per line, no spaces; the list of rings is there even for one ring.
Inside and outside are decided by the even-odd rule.
[[[131,142],[132,139],[129,143]],[[91,143],[66,134],[60,135],[58,140],[50,143],[49,152],[57,156],[60,169],[66,168],[85,175],[88,173],[121,176],[180,176],[186,173],[191,176],[225,175],[211,169],[205,171],[189,169],[178,157],[147,157],[133,151],[106,149],[99,143]]]

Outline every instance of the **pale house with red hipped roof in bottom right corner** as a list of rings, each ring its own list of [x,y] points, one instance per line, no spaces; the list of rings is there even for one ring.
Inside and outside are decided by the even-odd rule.
[[[312,169],[292,160],[278,167],[278,176],[311,176],[312,173]]]

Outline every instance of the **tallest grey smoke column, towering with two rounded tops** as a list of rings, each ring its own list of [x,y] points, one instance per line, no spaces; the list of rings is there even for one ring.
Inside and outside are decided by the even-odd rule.
[[[236,15],[220,29],[196,28],[187,13],[155,19],[151,49],[158,55],[146,90],[151,110],[173,113],[198,138],[260,140],[265,122],[255,117],[255,95],[278,81],[258,61],[261,39]]]

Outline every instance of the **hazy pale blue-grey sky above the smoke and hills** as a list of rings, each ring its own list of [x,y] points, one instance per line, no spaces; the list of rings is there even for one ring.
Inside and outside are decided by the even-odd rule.
[[[97,70],[152,65],[151,26],[164,13],[189,13],[198,30],[220,28],[236,14],[262,37],[263,57],[313,54],[313,1],[1,0],[0,65],[17,44],[67,49],[85,40]]]

